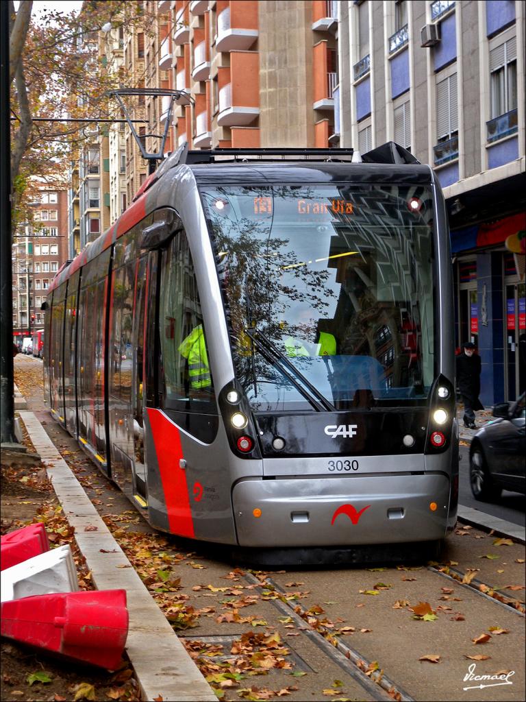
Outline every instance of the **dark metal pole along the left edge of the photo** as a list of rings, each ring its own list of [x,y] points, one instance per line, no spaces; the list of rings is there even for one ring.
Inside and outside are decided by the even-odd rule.
[[[9,6],[0,2],[0,441],[17,443],[13,397],[13,272],[11,271],[11,124]]]

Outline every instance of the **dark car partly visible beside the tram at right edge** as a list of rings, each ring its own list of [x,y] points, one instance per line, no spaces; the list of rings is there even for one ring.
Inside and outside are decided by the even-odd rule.
[[[469,450],[469,482],[476,500],[497,500],[503,489],[525,493],[525,393],[493,408],[497,417],[478,430]]]

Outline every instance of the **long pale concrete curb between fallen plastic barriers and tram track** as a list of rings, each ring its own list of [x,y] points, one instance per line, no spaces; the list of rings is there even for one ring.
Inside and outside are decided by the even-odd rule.
[[[128,599],[130,628],[126,652],[135,670],[142,698],[170,702],[217,702],[217,697],[187,654],[162,611],[149,594],[123,550],[55,448],[34,413],[20,418],[46,466],[65,517],[75,529],[97,590],[123,588]],[[86,527],[96,531],[85,531]]]

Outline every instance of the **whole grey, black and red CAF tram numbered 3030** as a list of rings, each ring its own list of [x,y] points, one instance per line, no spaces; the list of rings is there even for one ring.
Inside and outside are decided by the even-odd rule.
[[[183,145],[50,285],[46,395],[161,531],[319,558],[436,542],[452,319],[443,195],[409,152]]]

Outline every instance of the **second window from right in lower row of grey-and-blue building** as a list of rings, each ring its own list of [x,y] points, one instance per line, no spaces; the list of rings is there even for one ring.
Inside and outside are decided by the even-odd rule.
[[[451,161],[459,155],[459,110],[457,74],[452,73],[436,84],[435,165]]]

